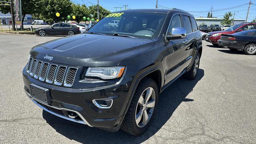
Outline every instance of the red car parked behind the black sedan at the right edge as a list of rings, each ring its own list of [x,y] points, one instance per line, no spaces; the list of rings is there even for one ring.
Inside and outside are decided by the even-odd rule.
[[[224,31],[209,32],[206,36],[206,41],[212,43],[214,46],[219,46],[218,40],[220,40],[221,34],[234,34],[236,32],[252,29],[256,29],[256,23],[236,24]]]

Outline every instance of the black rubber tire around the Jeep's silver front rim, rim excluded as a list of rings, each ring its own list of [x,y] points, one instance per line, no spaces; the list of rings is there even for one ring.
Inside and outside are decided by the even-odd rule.
[[[139,127],[136,124],[136,112],[137,112],[137,104],[139,101],[140,96],[146,90],[147,88],[153,88],[155,92],[155,105],[154,105],[154,111],[152,112],[152,116],[149,119],[148,123],[144,127]],[[132,134],[135,136],[143,134],[148,127],[150,126],[150,123],[154,119],[154,115],[156,114],[156,108],[158,103],[158,87],[156,85],[156,82],[152,80],[151,78],[144,78],[142,81],[140,81],[140,84],[138,85],[134,96],[132,98],[132,102],[128,108],[128,111],[126,113],[126,116],[124,117],[124,120],[121,125],[121,129],[124,132],[127,132],[128,134]]]

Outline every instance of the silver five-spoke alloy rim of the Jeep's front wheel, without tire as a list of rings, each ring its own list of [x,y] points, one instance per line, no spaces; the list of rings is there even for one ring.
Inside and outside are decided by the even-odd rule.
[[[138,127],[142,128],[148,124],[154,112],[156,93],[153,88],[146,88],[140,95],[136,106],[135,121]]]

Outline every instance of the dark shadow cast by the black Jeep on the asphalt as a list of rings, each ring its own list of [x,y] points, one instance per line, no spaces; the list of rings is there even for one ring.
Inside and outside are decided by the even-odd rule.
[[[119,130],[118,132],[108,132],[98,128],[91,128],[83,124],[64,120],[46,111],[43,111],[42,116],[46,122],[56,130],[56,132],[77,142],[97,144],[142,143],[164,126],[182,102],[193,101],[192,99],[186,98],[186,96],[192,92],[194,86],[196,86],[203,76],[204,70],[199,69],[195,80],[187,80],[181,77],[166,88],[159,97],[157,113],[151,126],[141,136],[132,136],[122,130]]]

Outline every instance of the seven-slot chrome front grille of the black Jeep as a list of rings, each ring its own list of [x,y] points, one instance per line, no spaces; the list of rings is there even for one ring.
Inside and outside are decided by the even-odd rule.
[[[42,82],[57,86],[73,86],[77,68],[49,64],[33,58],[29,59],[26,72]]]

